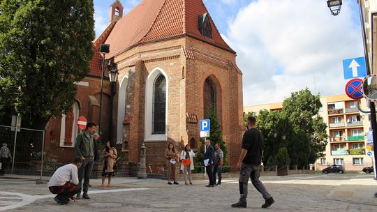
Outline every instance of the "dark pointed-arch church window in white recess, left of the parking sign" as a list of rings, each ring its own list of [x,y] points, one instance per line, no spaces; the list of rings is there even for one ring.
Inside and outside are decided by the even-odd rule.
[[[154,82],[152,134],[165,134],[166,79],[159,75]]]

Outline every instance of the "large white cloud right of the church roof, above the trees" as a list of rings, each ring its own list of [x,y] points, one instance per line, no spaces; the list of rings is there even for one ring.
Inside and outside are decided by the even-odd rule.
[[[305,87],[344,93],[342,59],[363,55],[352,15],[348,1],[337,17],[317,0],[259,0],[239,10],[223,37],[244,73],[244,105],[280,102]]]

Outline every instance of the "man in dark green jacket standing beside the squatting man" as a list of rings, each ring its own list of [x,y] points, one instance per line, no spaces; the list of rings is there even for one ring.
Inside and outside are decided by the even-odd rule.
[[[90,199],[88,195],[89,179],[94,163],[94,142],[92,135],[96,132],[96,124],[88,122],[87,128],[76,137],[75,151],[82,160],[82,166],[78,169],[79,186],[82,188],[82,198]],[[82,185],[82,179],[84,183]],[[81,199],[81,189],[77,192],[76,199]]]

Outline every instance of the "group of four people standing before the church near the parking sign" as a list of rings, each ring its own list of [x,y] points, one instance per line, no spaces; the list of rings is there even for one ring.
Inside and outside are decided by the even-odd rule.
[[[214,185],[221,185],[221,167],[223,166],[223,158],[224,153],[220,149],[219,144],[215,144],[215,149],[211,146],[211,140],[207,139],[205,142],[206,151],[204,160],[207,162],[205,164],[209,184],[206,185],[207,187],[214,187]],[[177,154],[175,151],[174,145],[170,142],[168,144],[168,149],[165,150],[165,158],[166,158],[166,165],[168,167],[168,184],[176,184],[179,183],[176,181],[175,178],[175,168],[177,166],[177,158],[179,158],[178,162],[181,163],[181,170],[184,175],[184,184],[185,185],[193,185],[192,178],[191,178],[191,171],[194,169],[194,160],[193,158],[197,156],[198,153],[194,153],[191,149],[190,145],[186,144],[184,146],[184,150]],[[219,177],[219,180],[216,183],[216,175]],[[173,181],[173,183],[171,182]]]

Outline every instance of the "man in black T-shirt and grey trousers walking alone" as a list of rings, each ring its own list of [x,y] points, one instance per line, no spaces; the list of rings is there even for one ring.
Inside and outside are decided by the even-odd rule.
[[[251,178],[251,183],[263,195],[265,204],[262,208],[267,208],[274,204],[274,199],[259,179],[260,161],[263,156],[263,135],[256,129],[256,118],[250,116],[247,119],[249,130],[244,133],[242,139],[242,150],[237,162],[237,168],[241,167],[239,172],[239,202],[232,204],[234,208],[246,208],[247,183]]]

